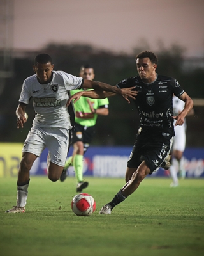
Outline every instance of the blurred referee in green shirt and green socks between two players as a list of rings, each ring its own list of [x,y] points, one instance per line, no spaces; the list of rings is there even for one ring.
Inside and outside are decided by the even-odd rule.
[[[94,68],[87,64],[80,68],[79,77],[93,80],[95,77]],[[85,90],[85,89],[81,89]],[[80,92],[80,90],[72,90],[70,93]],[[60,180],[63,182],[66,179],[69,166],[74,166],[75,175],[77,178],[77,192],[82,192],[82,189],[87,188],[89,183],[83,181],[83,156],[91,140],[95,134],[95,125],[98,115],[108,115],[108,99],[91,99],[81,97],[75,104],[75,129],[71,130],[71,144],[73,145],[73,154],[68,158],[64,165],[64,170]]]

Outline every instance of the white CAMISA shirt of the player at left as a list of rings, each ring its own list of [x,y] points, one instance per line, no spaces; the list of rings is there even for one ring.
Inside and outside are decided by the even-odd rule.
[[[19,102],[28,104],[29,99],[34,98],[36,116],[33,126],[70,129],[70,115],[66,107],[68,91],[80,88],[81,84],[82,77],[75,77],[63,71],[53,71],[52,81],[48,84],[40,84],[34,74],[25,79]]]

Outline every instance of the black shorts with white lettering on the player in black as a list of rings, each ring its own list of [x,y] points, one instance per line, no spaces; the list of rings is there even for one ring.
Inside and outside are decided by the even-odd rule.
[[[150,168],[150,174],[156,172],[170,152],[172,142],[173,133],[149,131],[137,134],[128,167],[138,168],[142,161],[145,161]]]

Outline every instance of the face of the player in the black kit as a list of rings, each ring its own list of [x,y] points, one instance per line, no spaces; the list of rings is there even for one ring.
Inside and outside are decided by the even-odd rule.
[[[152,64],[149,58],[136,59],[136,69],[142,81],[150,83],[154,81],[156,75],[156,64]]]

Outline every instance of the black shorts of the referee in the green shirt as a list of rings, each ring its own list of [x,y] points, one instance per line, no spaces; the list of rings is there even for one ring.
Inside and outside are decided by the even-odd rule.
[[[89,148],[95,133],[95,125],[88,127],[75,123],[75,130],[72,130],[71,144],[74,144],[77,141],[82,141],[84,143],[85,153]]]

